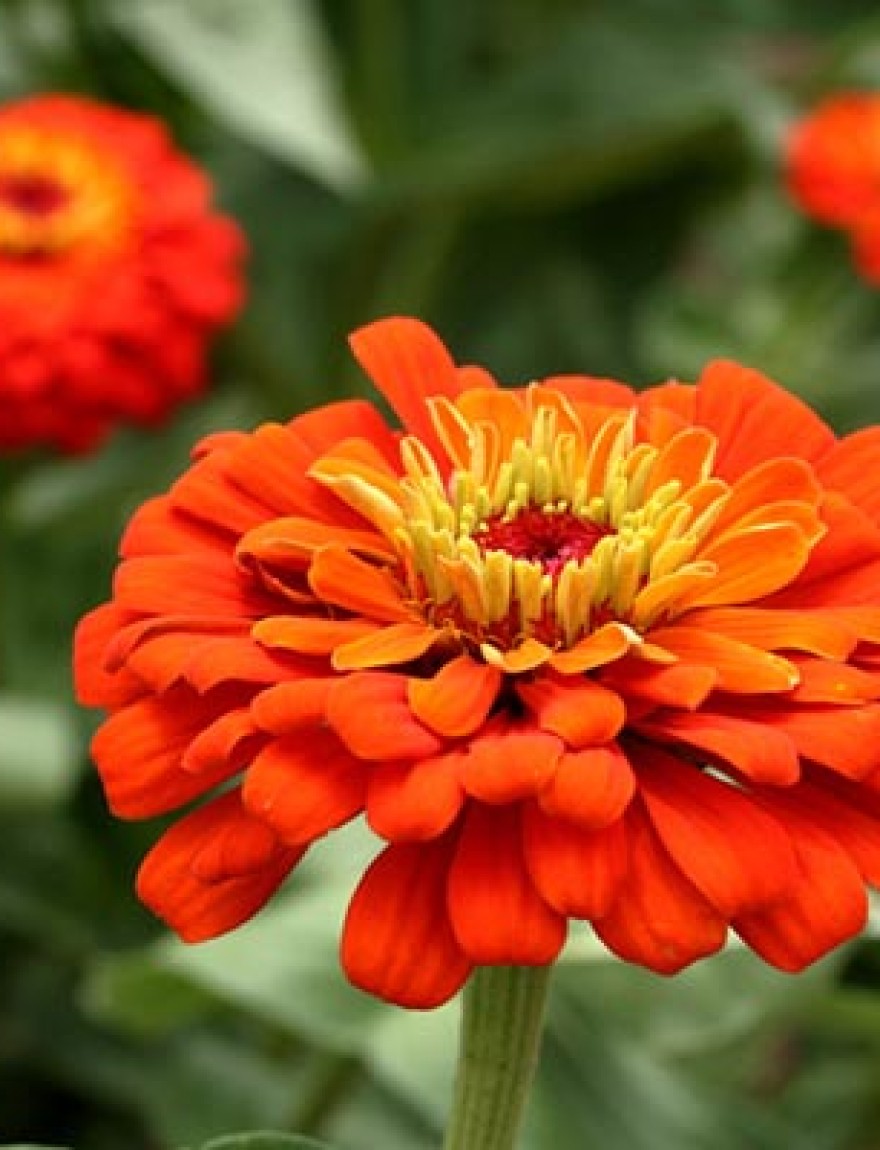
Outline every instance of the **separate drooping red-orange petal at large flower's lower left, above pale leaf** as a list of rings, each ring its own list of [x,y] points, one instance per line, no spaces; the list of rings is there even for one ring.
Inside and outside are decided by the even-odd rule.
[[[255,868],[219,879],[213,845],[217,836],[224,844],[247,837],[248,846],[234,848],[229,858],[235,869],[240,871],[244,861]],[[184,942],[225,934],[260,910],[304,853],[276,846],[267,856],[266,843],[265,828],[242,810],[238,791],[229,791],[162,835],[138,871],[138,896]],[[222,859],[224,851],[220,849],[219,854]],[[207,869],[211,877],[200,877],[198,869]]]

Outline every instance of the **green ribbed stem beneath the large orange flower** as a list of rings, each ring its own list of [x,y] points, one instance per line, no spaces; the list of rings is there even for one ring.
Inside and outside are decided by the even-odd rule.
[[[550,966],[483,966],[465,989],[443,1150],[513,1150],[537,1065]]]

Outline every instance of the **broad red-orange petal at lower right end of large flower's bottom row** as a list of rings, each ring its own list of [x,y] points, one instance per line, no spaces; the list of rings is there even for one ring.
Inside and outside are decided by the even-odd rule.
[[[772,966],[802,971],[864,927],[867,897],[847,852],[806,818],[787,811],[799,882],[779,903],[734,922],[740,937]]]

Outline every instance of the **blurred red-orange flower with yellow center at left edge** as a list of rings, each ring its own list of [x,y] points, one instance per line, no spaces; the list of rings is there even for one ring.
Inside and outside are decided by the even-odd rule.
[[[66,95],[0,108],[0,450],[84,451],[201,391],[243,246],[159,121]]]

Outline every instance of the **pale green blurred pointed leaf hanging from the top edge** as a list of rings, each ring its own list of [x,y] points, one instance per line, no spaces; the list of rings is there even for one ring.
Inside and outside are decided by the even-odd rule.
[[[309,0],[113,5],[118,30],[234,131],[338,190],[365,162]]]

